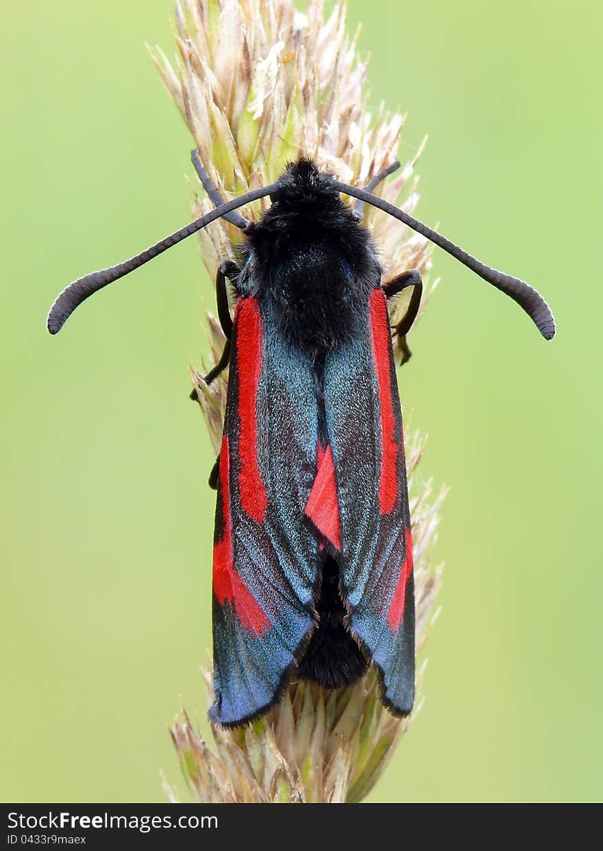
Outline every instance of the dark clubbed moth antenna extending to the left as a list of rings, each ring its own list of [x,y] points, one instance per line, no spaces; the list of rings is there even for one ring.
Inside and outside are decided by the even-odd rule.
[[[144,266],[149,260],[157,257],[158,254],[163,254],[168,248],[172,248],[176,243],[181,243],[183,239],[192,236],[193,233],[201,231],[204,227],[211,224],[216,219],[221,219],[226,214],[234,209],[244,207],[245,204],[257,201],[258,198],[263,198],[273,193],[278,193],[279,186],[276,183],[270,186],[262,186],[261,189],[254,189],[246,192],[238,198],[233,198],[232,201],[221,204],[210,210],[209,213],[201,216],[200,219],[192,221],[190,225],[182,227],[180,231],[175,231],[169,234],[160,242],[152,245],[151,248],[146,248],[141,254],[136,254],[129,260],[124,260],[123,263],[118,263],[117,266],[109,266],[108,269],[90,272],[89,275],[84,275],[78,278],[77,281],[70,283],[69,286],[60,293],[54,305],[50,308],[46,327],[50,334],[58,334],[60,329],[66,323],[66,320],[72,315],[72,312],[82,304],[90,295],[98,292],[99,289],[106,287],[107,284],[117,281],[118,278],[124,275],[129,275],[129,272]]]

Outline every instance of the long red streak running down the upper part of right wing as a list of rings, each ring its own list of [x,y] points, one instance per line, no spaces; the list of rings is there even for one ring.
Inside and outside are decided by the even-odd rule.
[[[389,511],[393,511],[398,498],[396,461],[399,447],[395,441],[393,418],[388,303],[382,289],[375,289],[370,295],[370,338],[381,403],[382,455],[379,507],[382,514],[388,514]]]

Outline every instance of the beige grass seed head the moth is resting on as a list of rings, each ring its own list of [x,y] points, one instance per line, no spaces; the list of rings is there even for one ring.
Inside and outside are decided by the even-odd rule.
[[[301,155],[356,186],[365,186],[396,159],[404,117],[384,106],[375,114],[367,109],[367,63],[359,58],[358,35],[347,35],[345,14],[345,5],[338,3],[325,19],[323,0],[310,0],[303,13],[291,0],[177,0],[177,61],[171,65],[160,49],[152,57],[223,197],[273,182]],[[420,153],[377,190],[407,212],[418,200],[414,169]],[[256,220],[267,203],[264,199],[242,212]],[[193,213],[212,206],[196,182]],[[430,246],[424,237],[374,208],[365,209],[365,224],[385,282],[411,268],[425,276]],[[240,239],[240,231],[224,220],[201,231],[201,255],[212,277],[221,260],[236,260]],[[393,322],[404,310],[405,299],[396,300]],[[215,363],[224,336],[210,313],[207,320]],[[192,369],[192,380],[217,452],[227,374],[207,386],[201,371]],[[434,499],[431,483],[417,482],[423,446],[415,434],[407,449],[417,651],[433,620],[439,586],[430,552],[443,499],[443,494]],[[208,688],[211,693],[209,682]],[[342,802],[368,794],[410,722],[383,709],[371,673],[336,692],[293,683],[267,717],[234,731],[214,729],[217,753],[184,712],[172,735],[198,801]],[[169,796],[175,800],[171,791]]]

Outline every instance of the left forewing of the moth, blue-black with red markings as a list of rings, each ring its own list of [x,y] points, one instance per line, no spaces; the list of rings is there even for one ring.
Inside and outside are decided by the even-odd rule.
[[[317,430],[309,359],[290,351],[253,297],[239,300],[215,514],[215,725],[275,705],[314,629],[318,541],[299,517]]]

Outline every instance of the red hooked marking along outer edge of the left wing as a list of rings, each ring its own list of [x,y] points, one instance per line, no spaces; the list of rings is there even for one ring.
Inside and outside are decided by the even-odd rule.
[[[244,629],[260,637],[269,628],[270,621],[234,568],[233,524],[230,514],[230,453],[226,435],[222,437],[220,453],[220,494],[224,533],[222,539],[214,545],[215,598],[220,605],[233,604]]]

